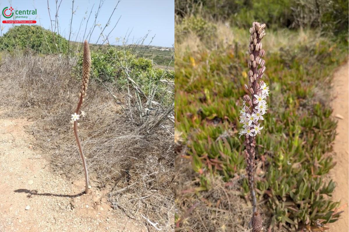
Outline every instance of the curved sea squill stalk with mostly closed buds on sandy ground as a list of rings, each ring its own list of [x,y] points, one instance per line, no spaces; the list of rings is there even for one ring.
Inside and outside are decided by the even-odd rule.
[[[82,164],[85,171],[85,193],[87,194],[89,192],[89,178],[88,178],[88,171],[87,171],[87,165],[86,160],[84,157],[84,152],[82,150],[81,141],[79,138],[79,135],[77,134],[77,127],[79,126],[79,123],[77,123],[77,120],[80,118],[80,107],[82,103],[84,102],[84,97],[86,97],[86,91],[87,86],[89,82],[89,76],[90,76],[90,70],[91,70],[91,54],[90,54],[90,48],[88,46],[87,40],[84,42],[84,54],[83,54],[83,61],[82,61],[82,87],[79,93],[79,103],[77,103],[76,111],[74,114],[72,114],[72,122],[74,123],[74,135],[77,142],[77,146],[79,147]],[[81,111],[82,115],[83,112]]]

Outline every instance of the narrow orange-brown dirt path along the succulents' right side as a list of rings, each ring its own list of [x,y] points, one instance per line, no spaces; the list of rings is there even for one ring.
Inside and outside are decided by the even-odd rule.
[[[333,199],[340,200],[341,214],[339,221],[330,224],[330,232],[344,232],[349,230],[348,223],[348,63],[341,66],[334,74],[332,115],[338,120],[337,135],[334,141],[333,150],[336,153],[333,157],[337,165],[331,170],[330,175],[336,182]]]

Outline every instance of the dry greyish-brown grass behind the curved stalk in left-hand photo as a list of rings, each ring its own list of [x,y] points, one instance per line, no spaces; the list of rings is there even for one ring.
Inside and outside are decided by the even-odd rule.
[[[36,147],[47,154],[55,172],[82,178],[79,150],[69,123],[81,84],[70,76],[71,69],[71,64],[55,55],[2,56],[0,106],[9,110],[2,117],[25,116],[34,122],[28,132],[35,136]],[[174,224],[173,123],[162,120],[154,126],[162,114],[148,116],[149,120],[129,119],[127,115],[138,108],[120,104],[128,101],[127,96],[112,85],[90,81],[79,134],[91,185],[113,186],[109,200],[115,209],[145,223],[143,215],[158,223],[162,231],[170,231]],[[134,99],[131,102],[136,104]],[[151,225],[149,229],[154,230]]]

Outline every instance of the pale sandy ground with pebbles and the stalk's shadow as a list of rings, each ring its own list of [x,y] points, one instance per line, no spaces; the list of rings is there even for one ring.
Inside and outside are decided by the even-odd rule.
[[[0,116],[0,232],[148,231],[143,222],[116,213],[107,190],[92,187],[83,194],[83,176],[68,181],[53,173],[24,131],[29,124]]]

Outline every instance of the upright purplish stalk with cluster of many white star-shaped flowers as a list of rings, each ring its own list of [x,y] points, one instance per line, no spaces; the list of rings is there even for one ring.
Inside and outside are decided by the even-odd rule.
[[[252,214],[252,232],[263,231],[262,218],[257,211],[257,200],[254,192],[254,174],[255,174],[255,136],[260,134],[263,127],[260,126],[259,120],[264,120],[263,115],[268,110],[266,102],[269,96],[269,87],[261,78],[265,72],[265,61],[262,57],[265,51],[262,49],[262,38],[265,34],[265,24],[253,22],[250,28],[250,46],[248,53],[250,59],[248,61],[248,85],[245,84],[245,89],[250,92],[244,96],[243,107],[240,110],[240,123],[243,123],[243,129],[239,132],[240,136],[245,135],[245,155],[246,155],[246,172],[248,175],[248,185],[250,187],[251,196],[253,200],[253,214]],[[248,106],[247,106],[248,104]]]

